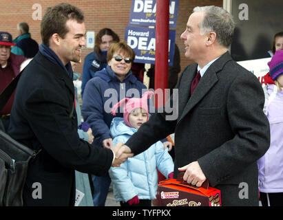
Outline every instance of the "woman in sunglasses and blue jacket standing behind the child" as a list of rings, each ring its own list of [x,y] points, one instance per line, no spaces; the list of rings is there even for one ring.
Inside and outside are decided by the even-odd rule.
[[[131,67],[134,57],[134,50],[127,43],[124,41],[113,43],[107,52],[106,68],[96,72],[94,78],[89,80],[85,87],[81,108],[83,119],[92,128],[94,143],[101,147],[110,148],[112,146],[112,136],[109,131],[114,118],[114,115],[111,114],[112,104],[125,98],[129,89],[136,89],[139,96],[142,95],[143,89],[147,90],[147,87],[132,75]],[[105,91],[115,91],[113,103],[109,103],[109,96],[105,94]],[[127,97],[132,98],[133,95],[130,93]],[[108,111],[105,108],[109,108]],[[123,117],[123,114],[117,114],[116,117]],[[109,174],[102,177],[92,175],[92,181],[94,206],[105,206],[111,183]]]

